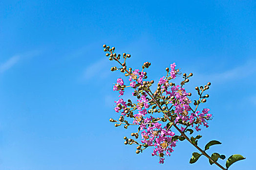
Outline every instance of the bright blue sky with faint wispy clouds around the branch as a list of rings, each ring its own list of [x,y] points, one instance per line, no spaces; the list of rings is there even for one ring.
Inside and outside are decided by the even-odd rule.
[[[233,1],[0,1],[0,170],[216,170],[179,142],[164,165],[149,149],[135,154],[115,128],[112,84],[120,73],[104,43],[152,63],[158,81],[176,62],[192,72],[186,85],[212,82],[205,107],[214,118],[198,145],[246,160],[230,170],[252,170],[256,128],[256,3]],[[202,108],[202,107],[201,107]],[[224,161],[219,161],[222,165]]]

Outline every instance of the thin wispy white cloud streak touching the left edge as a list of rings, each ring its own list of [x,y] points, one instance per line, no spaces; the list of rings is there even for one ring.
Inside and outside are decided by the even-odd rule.
[[[21,59],[33,57],[35,55],[38,55],[41,51],[28,51],[23,54],[14,55],[11,58],[9,58],[7,61],[0,63],[0,73],[3,73],[7,71],[8,69],[15,66]]]

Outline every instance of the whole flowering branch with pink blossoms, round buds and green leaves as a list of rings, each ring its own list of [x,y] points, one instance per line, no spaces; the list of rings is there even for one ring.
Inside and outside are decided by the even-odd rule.
[[[226,168],[217,163],[218,158],[225,159],[225,155],[220,155],[219,153],[213,153],[212,156],[206,153],[206,150],[210,146],[221,144],[219,141],[212,140],[205,145],[205,149],[202,150],[197,146],[198,139],[202,136],[197,135],[195,137],[191,136],[190,138],[185,134],[190,132],[192,135],[193,130],[189,127],[194,128],[197,132],[201,129],[200,125],[209,127],[208,120],[212,119],[212,114],[208,113],[210,109],[204,108],[201,112],[198,111],[198,106],[200,103],[205,103],[206,99],[209,98],[209,95],[206,94],[203,96],[203,92],[209,89],[211,83],[207,85],[195,87],[199,95],[199,99],[194,100],[195,109],[191,107],[192,101],[189,99],[192,96],[192,93],[187,93],[183,85],[189,82],[189,78],[193,76],[190,73],[188,76],[186,73],[183,74],[184,81],[180,85],[175,85],[174,83],[169,83],[170,80],[175,79],[178,75],[181,74],[179,69],[175,69],[175,63],[171,64],[171,69],[166,68],[167,74],[160,78],[157,84],[157,89],[151,91],[150,86],[154,84],[154,81],[145,81],[148,78],[147,72],[144,71],[145,68],[149,68],[151,63],[145,62],[142,66],[142,71],[139,69],[133,70],[132,68],[127,69],[127,58],[130,58],[130,54],[123,53],[124,62],[120,61],[121,54],[114,53],[115,48],[110,48],[107,45],[103,45],[104,51],[106,51],[106,56],[109,57],[109,60],[115,60],[120,65],[121,68],[112,67],[111,71],[120,70],[125,73],[125,76],[128,77],[129,85],[125,85],[125,82],[122,78],[118,78],[116,84],[113,86],[114,91],[119,92],[119,97],[124,95],[125,88],[130,87],[133,89],[132,96],[137,97],[137,103],[132,102],[130,99],[128,102],[125,102],[123,99],[115,101],[116,107],[114,108],[115,112],[121,113],[119,121],[114,119],[109,119],[110,122],[117,122],[115,126],[118,127],[124,124],[124,128],[128,128],[129,125],[137,125],[138,132],[131,133],[131,136],[134,136],[136,139],[141,139],[141,143],[138,143],[136,139],[131,139],[124,137],[125,144],[135,144],[136,153],[142,153],[146,148],[153,147],[152,156],[159,156],[159,163],[164,163],[165,156],[170,156],[173,152],[173,147],[176,146],[178,141],[188,140],[192,146],[194,146],[200,153],[192,153],[192,158],[190,163],[195,163],[201,155],[205,155],[209,159],[209,163],[215,164],[222,170],[228,170],[228,168],[235,163],[236,161],[245,159],[239,154],[232,155],[226,161]],[[136,111],[136,114],[133,112]],[[155,118],[152,115],[163,114],[164,117]],[[132,123],[128,122],[125,119],[131,118]],[[163,125],[164,122],[168,120],[166,125]],[[161,123],[162,122],[162,123]],[[171,130],[174,127],[180,135],[175,135]],[[140,135],[139,135],[140,133]],[[143,148],[144,147],[144,148]]]

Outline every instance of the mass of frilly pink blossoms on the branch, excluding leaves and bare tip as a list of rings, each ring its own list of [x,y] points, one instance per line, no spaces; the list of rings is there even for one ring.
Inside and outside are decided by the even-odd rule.
[[[209,114],[209,109],[205,108],[200,113],[196,111],[193,113],[192,108],[190,107],[191,100],[188,98],[189,93],[186,92],[184,88],[180,85],[171,85],[169,84],[168,79],[175,79],[176,78],[176,70],[175,70],[175,63],[171,64],[171,70],[169,72],[170,77],[161,77],[158,84],[161,86],[161,92],[166,93],[165,102],[167,102],[167,106],[170,104],[172,105],[171,108],[174,110],[175,124],[180,125],[179,122],[182,120],[183,124],[187,123],[193,127],[193,124],[197,124],[195,126],[196,131],[200,131],[199,125],[204,125],[208,127],[207,120],[212,118],[212,114]],[[170,156],[173,152],[173,147],[176,146],[176,141],[172,140],[172,137],[175,135],[171,129],[167,130],[167,127],[159,123],[161,119],[153,118],[149,116],[149,113],[153,113],[153,109],[149,109],[150,103],[151,106],[153,105],[152,102],[149,103],[148,95],[146,94],[146,90],[144,93],[141,93],[141,87],[137,89],[139,85],[143,85],[144,72],[139,72],[139,69],[135,69],[129,75],[129,82],[130,86],[134,89],[133,96],[137,96],[138,100],[137,103],[128,103],[129,107],[126,108],[128,105],[124,102],[123,99],[119,99],[115,101],[116,107],[114,108],[115,112],[121,113],[121,115],[126,116],[126,113],[130,112],[130,115],[133,115],[132,112],[134,110],[138,110],[137,114],[131,116],[133,118],[133,124],[139,125],[139,130],[141,131],[141,142],[144,146],[153,146],[152,156],[159,156],[159,163],[164,163],[164,156]],[[150,85],[150,84],[149,84]],[[147,86],[146,86],[147,87]],[[114,91],[119,91],[119,97],[124,94],[124,80],[121,78],[117,79],[116,84],[113,86]],[[136,93],[136,94],[135,94]],[[150,93],[148,93],[150,96]],[[156,98],[158,100],[158,98]],[[154,99],[154,100],[156,100]],[[152,100],[153,101],[153,100]],[[168,106],[168,107],[169,107]],[[162,107],[162,106],[161,106]],[[170,107],[169,107],[170,108]],[[125,110],[126,109],[126,110]],[[148,112],[149,109],[149,112]],[[131,111],[130,111],[131,110]],[[151,110],[151,111],[150,111]],[[154,111],[154,112],[159,112]],[[120,120],[123,121],[123,120]],[[126,121],[128,122],[128,121]],[[184,123],[185,122],[185,123]],[[121,124],[122,122],[120,122]],[[181,126],[180,129],[182,131],[185,130],[185,127]],[[137,136],[138,137],[138,136]],[[136,138],[137,138],[136,137]]]

